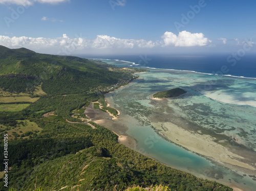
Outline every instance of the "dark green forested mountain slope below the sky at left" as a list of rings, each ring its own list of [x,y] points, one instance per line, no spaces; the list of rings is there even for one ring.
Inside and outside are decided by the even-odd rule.
[[[97,64],[72,56],[38,54],[24,48],[8,49],[4,46],[0,46],[0,68],[0,88],[12,92],[31,91],[40,83],[48,94],[90,92],[98,87],[104,90],[133,79],[131,74],[113,65]],[[109,68],[116,69],[111,71]]]

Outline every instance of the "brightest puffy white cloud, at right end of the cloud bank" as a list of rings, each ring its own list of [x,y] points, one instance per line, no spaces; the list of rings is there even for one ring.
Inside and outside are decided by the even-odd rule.
[[[178,36],[172,32],[165,32],[162,36],[164,46],[205,46],[211,41],[204,37],[203,33],[190,33],[182,31]]]

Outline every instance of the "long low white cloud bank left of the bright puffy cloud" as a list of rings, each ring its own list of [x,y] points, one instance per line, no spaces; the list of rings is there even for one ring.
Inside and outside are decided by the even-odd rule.
[[[55,47],[59,50],[83,50],[83,49],[133,49],[151,48],[158,45],[157,42],[134,39],[120,39],[107,35],[98,35],[96,39],[69,38],[63,34],[58,38],[32,38],[32,37],[8,37],[0,35],[0,44],[10,47],[27,47],[28,49],[48,49]],[[69,51],[70,52],[70,51]]]

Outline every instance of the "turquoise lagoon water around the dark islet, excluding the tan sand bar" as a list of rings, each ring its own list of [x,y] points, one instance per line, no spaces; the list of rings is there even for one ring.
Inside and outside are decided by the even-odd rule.
[[[102,61],[125,66],[121,61]],[[209,135],[225,139],[229,144],[241,147],[241,151],[244,148],[255,155],[256,79],[148,69],[149,73],[137,74],[139,79],[106,95],[110,105],[121,113],[116,122],[126,127],[125,135],[136,139],[135,150],[200,178],[255,190],[255,171],[247,174],[228,169],[179,147],[160,136],[153,124],[161,122],[163,128],[168,129],[171,128],[168,123],[174,123],[185,129],[209,132]],[[183,88],[187,93],[164,101],[150,98],[155,92],[175,87]],[[250,161],[255,168],[256,159]]]

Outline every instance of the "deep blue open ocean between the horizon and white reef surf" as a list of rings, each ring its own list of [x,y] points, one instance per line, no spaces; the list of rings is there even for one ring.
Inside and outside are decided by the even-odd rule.
[[[81,56],[83,58],[118,59],[137,66],[162,69],[190,70],[200,73],[256,78],[256,55],[115,55]]]

